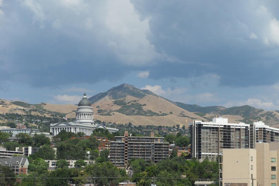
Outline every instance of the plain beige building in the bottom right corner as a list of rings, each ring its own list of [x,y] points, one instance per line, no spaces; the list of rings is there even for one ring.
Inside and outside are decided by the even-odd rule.
[[[223,149],[220,186],[276,186],[279,142],[255,143],[254,149]]]

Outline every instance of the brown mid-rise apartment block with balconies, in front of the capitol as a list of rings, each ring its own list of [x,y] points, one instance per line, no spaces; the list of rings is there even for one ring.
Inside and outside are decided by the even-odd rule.
[[[114,142],[110,142],[110,162],[118,168],[127,168],[131,158],[143,158],[146,161],[157,163],[169,157],[169,143],[164,142],[164,137],[133,137],[116,136]]]

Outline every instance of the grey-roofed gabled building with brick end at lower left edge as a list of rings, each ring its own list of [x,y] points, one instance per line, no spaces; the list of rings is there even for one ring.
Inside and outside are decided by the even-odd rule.
[[[11,158],[0,158],[0,164],[9,166],[15,174],[27,174],[29,161],[26,157],[16,156]]]

